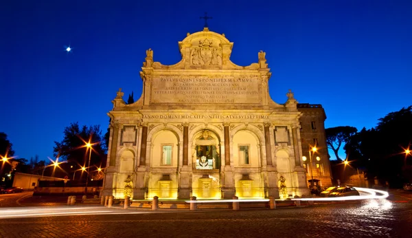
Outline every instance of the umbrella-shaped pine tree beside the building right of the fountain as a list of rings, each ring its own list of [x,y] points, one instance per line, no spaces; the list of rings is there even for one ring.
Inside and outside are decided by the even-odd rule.
[[[341,160],[338,155],[339,149],[343,143],[350,141],[350,138],[358,131],[355,127],[330,127],[325,129],[326,144],[332,149],[336,156],[336,160]]]

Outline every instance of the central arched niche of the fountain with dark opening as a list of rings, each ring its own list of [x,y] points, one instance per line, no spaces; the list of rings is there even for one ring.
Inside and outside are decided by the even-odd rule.
[[[203,129],[194,133],[192,140],[194,169],[203,171],[220,169],[220,151],[220,140],[214,131]]]

